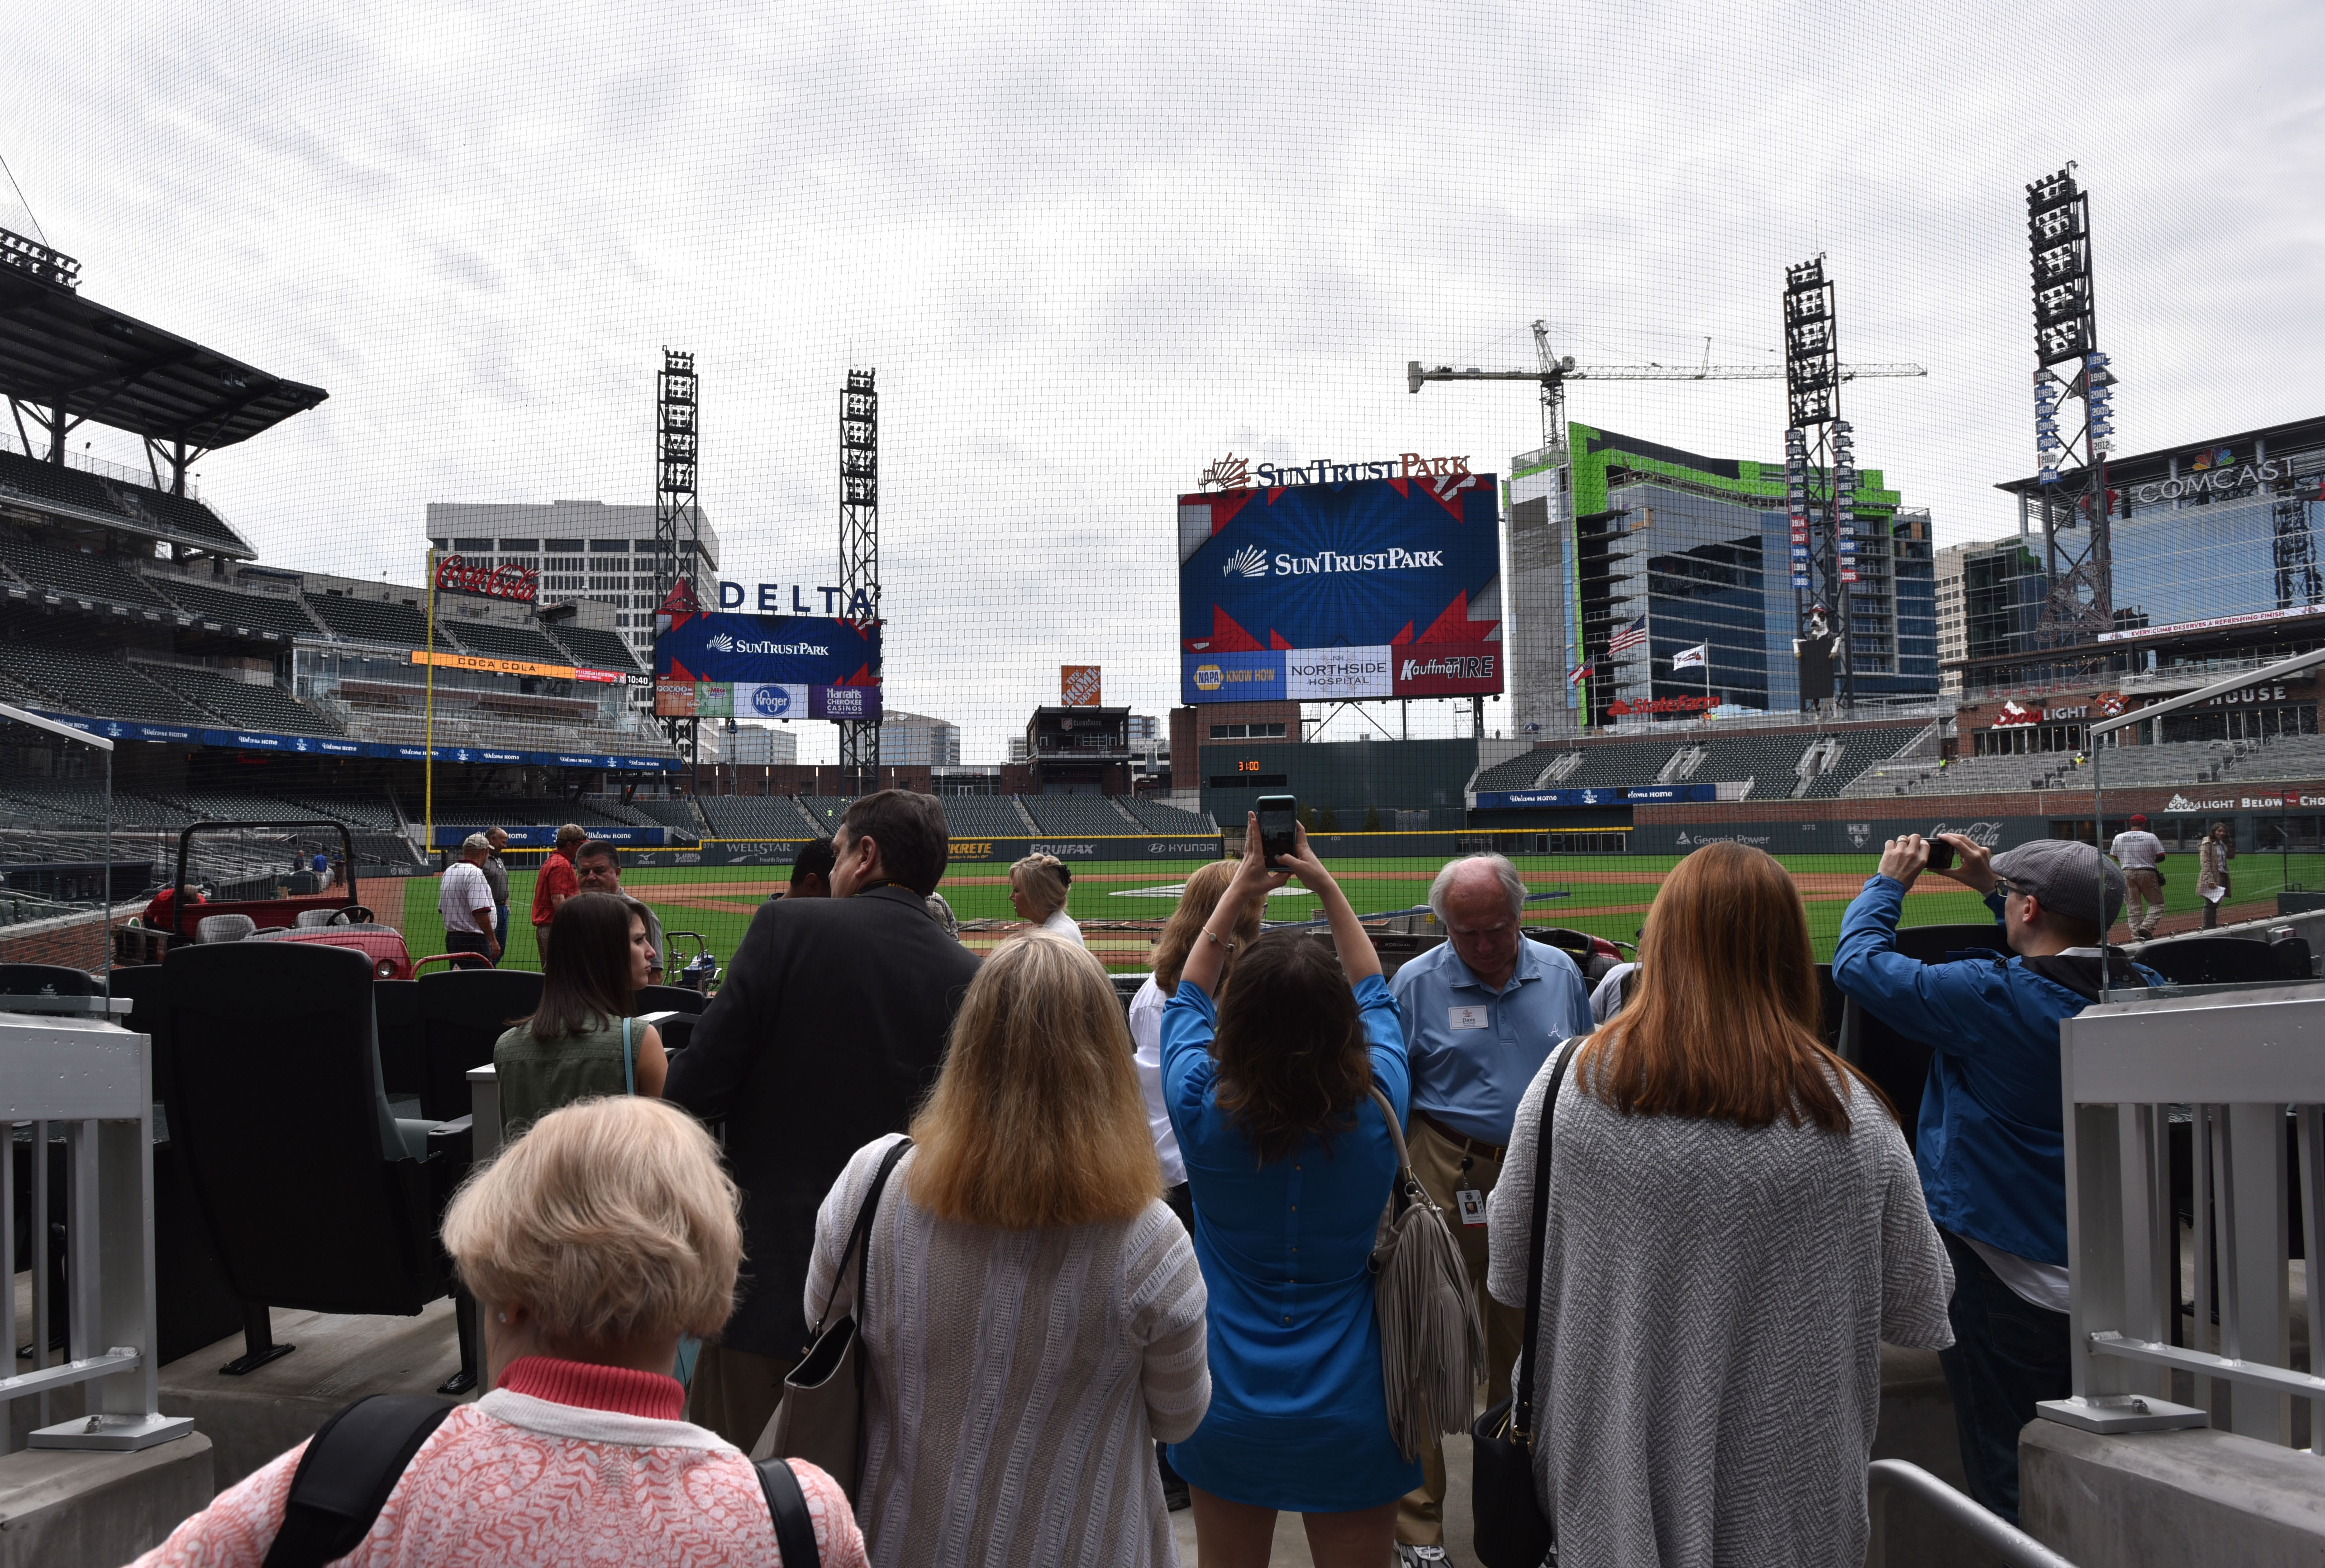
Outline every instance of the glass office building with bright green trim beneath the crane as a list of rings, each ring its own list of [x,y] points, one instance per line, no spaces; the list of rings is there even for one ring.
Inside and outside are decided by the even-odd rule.
[[[1616,703],[1797,712],[1783,465],[1707,458],[1574,423],[1511,465],[1511,682],[1521,733],[1609,724]],[[1860,470],[1848,598],[1858,698],[1937,696],[1930,514]],[[1621,654],[1611,637],[1646,619]],[[1704,644],[1709,670],[1672,658]],[[1567,672],[1588,663],[1583,686]],[[1655,710],[1665,712],[1665,710]],[[1679,712],[1686,712],[1681,707]]]

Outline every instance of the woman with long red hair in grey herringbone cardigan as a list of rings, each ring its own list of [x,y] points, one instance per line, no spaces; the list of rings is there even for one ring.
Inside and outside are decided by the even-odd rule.
[[[1532,1452],[1558,1561],[1855,1568],[1881,1342],[1953,1342],[1913,1156],[1818,1038],[1809,914],[1769,856],[1681,861],[1637,979],[1535,1077],[1488,1198],[1497,1300],[1525,1305],[1544,1226]]]

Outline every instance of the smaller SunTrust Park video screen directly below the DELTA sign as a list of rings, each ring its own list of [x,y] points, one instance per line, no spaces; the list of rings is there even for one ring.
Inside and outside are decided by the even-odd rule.
[[[672,614],[653,640],[663,719],[879,719],[879,626],[795,614]]]

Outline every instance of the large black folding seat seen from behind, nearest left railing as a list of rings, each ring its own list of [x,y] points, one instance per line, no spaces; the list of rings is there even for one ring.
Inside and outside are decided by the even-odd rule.
[[[274,1342],[270,1307],[409,1317],[444,1296],[453,1280],[437,1224],[470,1128],[388,1112],[370,958],[302,942],[184,945],[163,975],[170,1142],[242,1303],[244,1354],[221,1370],[293,1349]],[[460,1328],[453,1384],[472,1384],[467,1314]]]

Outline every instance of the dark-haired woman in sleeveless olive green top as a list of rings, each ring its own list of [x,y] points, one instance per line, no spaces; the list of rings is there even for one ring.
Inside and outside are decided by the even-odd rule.
[[[593,1096],[660,1098],[670,1072],[663,1035],[630,1017],[651,965],[653,938],[635,898],[565,900],[549,926],[542,1005],[493,1045],[505,1135]]]

